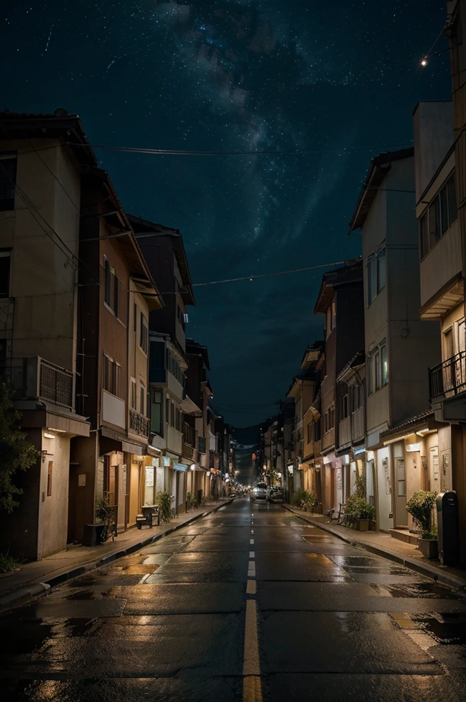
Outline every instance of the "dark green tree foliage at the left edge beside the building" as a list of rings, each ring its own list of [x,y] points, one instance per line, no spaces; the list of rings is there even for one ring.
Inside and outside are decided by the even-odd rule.
[[[12,512],[19,502],[15,496],[22,490],[13,483],[17,470],[27,470],[41,455],[20,432],[21,415],[13,405],[13,391],[0,381],[0,512]]]

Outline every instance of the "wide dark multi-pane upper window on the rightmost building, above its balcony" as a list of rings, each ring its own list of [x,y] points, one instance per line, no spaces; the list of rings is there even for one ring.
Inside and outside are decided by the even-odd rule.
[[[455,174],[453,173],[419,220],[421,259],[427,256],[430,249],[457,219]]]

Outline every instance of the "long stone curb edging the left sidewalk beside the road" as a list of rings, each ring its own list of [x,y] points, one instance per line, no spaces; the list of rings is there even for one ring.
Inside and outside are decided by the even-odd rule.
[[[84,565],[74,566],[69,570],[65,571],[64,573],[60,573],[59,575],[52,576],[51,578],[44,580],[44,582],[42,583],[30,583],[29,585],[21,585],[19,588],[15,588],[15,590],[11,590],[11,592],[7,592],[6,595],[0,597],[0,609],[4,609],[5,607],[9,607],[13,604],[19,604],[20,602],[31,600],[32,597],[39,597],[40,595],[45,595],[46,592],[48,592],[48,590],[50,590],[51,588],[55,587],[55,585],[61,585],[61,583],[65,583],[65,581],[72,580],[73,578],[77,578],[80,575],[89,573],[102,566],[112,563],[124,556],[131,555],[131,553],[134,553],[135,551],[138,551],[141,548],[145,548],[145,546],[149,546],[155,541],[160,541],[160,539],[164,538],[164,536],[173,534],[173,532],[178,531],[178,529],[188,527],[189,524],[192,524],[192,522],[196,522],[197,519],[202,519],[202,517],[213,515],[213,513],[217,512],[217,510],[220,510],[220,508],[226,507],[226,505],[231,505],[232,502],[233,498],[222,502],[221,505],[217,505],[212,510],[206,510],[206,512],[201,512],[199,515],[195,515],[194,517],[191,517],[191,519],[187,519],[186,522],[182,522],[181,524],[175,524],[174,527],[163,531],[161,534],[154,534],[154,536],[149,536],[143,541],[133,543],[131,546],[128,546],[128,548],[124,550],[109,553],[108,555],[103,556],[102,558],[88,561]]]

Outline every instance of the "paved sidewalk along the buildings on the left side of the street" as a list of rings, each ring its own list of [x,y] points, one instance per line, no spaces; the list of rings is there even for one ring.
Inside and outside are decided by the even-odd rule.
[[[134,551],[157,541],[166,534],[185,527],[196,519],[205,517],[229,505],[232,498],[224,498],[217,502],[210,502],[198,509],[192,509],[185,515],[172,519],[170,524],[161,524],[159,527],[132,527],[122,531],[106,543],[98,546],[76,546],[69,550],[54,553],[41,561],[32,561],[21,566],[20,571],[0,575],[0,608],[8,607],[20,600],[41,595],[53,585],[58,585],[70,578],[87,573],[102,565],[126,556]]]

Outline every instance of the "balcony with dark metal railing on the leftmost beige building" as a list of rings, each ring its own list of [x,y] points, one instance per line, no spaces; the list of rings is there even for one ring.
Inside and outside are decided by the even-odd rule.
[[[9,359],[0,377],[11,383],[17,400],[44,399],[73,409],[73,373],[39,356]]]

